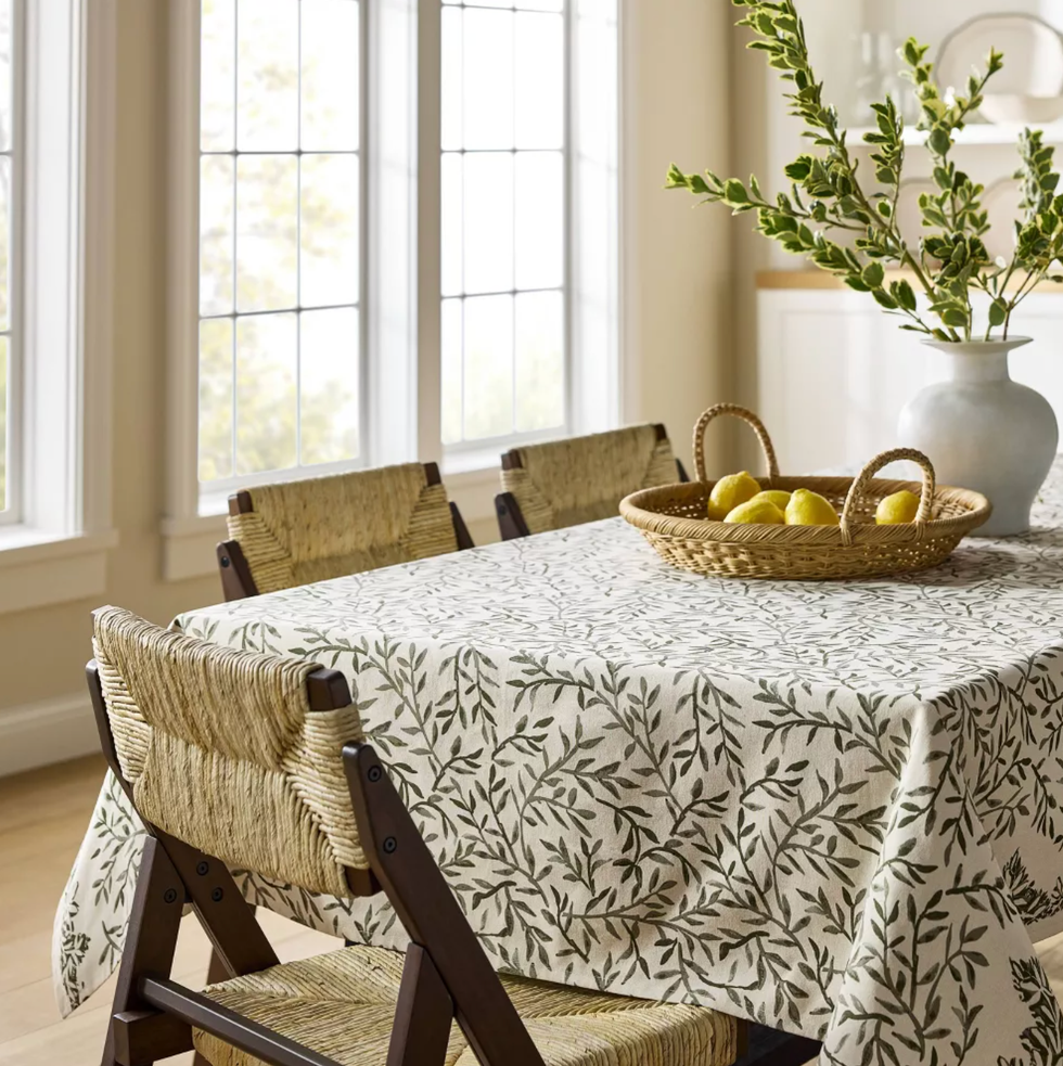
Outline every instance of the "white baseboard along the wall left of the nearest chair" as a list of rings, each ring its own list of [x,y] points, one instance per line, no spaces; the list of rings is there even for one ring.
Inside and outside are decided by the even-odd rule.
[[[0,778],[99,750],[88,694],[0,709]]]

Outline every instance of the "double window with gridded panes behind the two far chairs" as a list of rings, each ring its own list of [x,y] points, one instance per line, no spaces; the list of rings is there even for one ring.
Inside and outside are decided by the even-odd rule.
[[[617,0],[172,11],[168,538],[243,485],[615,424]]]

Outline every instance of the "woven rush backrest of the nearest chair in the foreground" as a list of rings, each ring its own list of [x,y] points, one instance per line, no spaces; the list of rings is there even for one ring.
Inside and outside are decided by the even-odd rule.
[[[349,695],[311,712],[315,664],[219,647],[117,607],[97,611],[93,630],[141,815],[230,866],[349,896],[347,869],[368,869],[342,758],[362,735]]]

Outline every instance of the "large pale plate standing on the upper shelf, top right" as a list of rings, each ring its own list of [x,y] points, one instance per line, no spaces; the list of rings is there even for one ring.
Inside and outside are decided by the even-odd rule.
[[[1037,15],[979,15],[953,29],[937,52],[942,92],[966,95],[968,79],[984,70],[989,50],[1004,56],[1003,69],[987,87],[994,93],[1020,97],[1063,95],[1063,37]]]

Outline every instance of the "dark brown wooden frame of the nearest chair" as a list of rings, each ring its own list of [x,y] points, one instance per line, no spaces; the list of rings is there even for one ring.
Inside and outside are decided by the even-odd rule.
[[[86,668],[100,742],[121,773],[95,662]],[[311,710],[350,703],[335,670],[307,679]],[[457,1020],[484,1066],[543,1066],[432,853],[369,744],[347,744],[344,770],[369,870],[348,870],[351,894],[383,891],[412,941],[406,953],[387,1066],[441,1066]],[[272,1066],[336,1066],[267,1026],[170,977],[182,909],[191,903],[230,976],[278,963],[225,863],[145,822],[126,948],[118,971],[103,1066],[151,1066],[192,1049],[192,1026]]]

